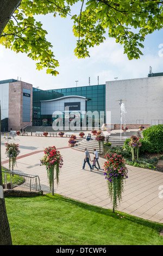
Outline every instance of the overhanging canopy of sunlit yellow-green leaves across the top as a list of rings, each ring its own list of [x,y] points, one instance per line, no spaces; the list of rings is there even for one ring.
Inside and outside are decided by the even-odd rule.
[[[71,7],[76,3],[81,5],[79,14],[71,16]],[[36,69],[46,68],[52,75],[58,74],[59,63],[46,40],[47,31],[35,20],[35,15],[48,13],[54,17],[71,16],[73,33],[78,38],[74,50],[78,58],[90,57],[89,48],[101,44],[104,34],[124,45],[128,59],[140,58],[145,36],[163,25],[162,1],[158,0],[22,0],[5,26],[0,44],[27,53],[36,60]]]

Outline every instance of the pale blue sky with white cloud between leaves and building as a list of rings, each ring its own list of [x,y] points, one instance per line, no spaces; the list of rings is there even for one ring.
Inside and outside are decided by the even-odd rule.
[[[163,30],[146,37],[143,56],[128,60],[123,54],[123,45],[115,39],[106,38],[99,46],[90,48],[90,58],[78,59],[74,56],[77,38],[73,35],[71,16],[66,19],[52,15],[37,16],[48,32],[47,40],[53,45],[55,59],[59,61],[59,75],[46,74],[46,70],[36,70],[34,60],[26,53],[15,53],[0,45],[0,81],[21,80],[40,89],[60,89],[76,86],[105,84],[106,81],[147,77],[149,66],[152,72],[163,72]],[[159,48],[160,47],[160,48]],[[161,50],[162,49],[162,50]],[[76,82],[78,81],[78,82]]]

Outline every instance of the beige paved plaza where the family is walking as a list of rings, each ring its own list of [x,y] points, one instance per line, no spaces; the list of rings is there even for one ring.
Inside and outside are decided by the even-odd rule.
[[[78,132],[76,135],[78,137]],[[5,155],[5,143],[8,141],[3,135],[1,139],[2,166],[8,168],[8,158]],[[21,151],[14,170],[39,175],[41,190],[49,192],[46,168],[40,166],[40,159],[43,157],[44,148],[55,146],[63,157],[64,165],[60,172],[59,185],[54,185],[54,193],[112,209],[102,169],[105,160],[99,158],[100,170],[94,169],[90,172],[87,163],[82,170],[84,152],[76,150],[75,147],[70,148],[68,139],[68,137],[39,137],[34,133],[33,136],[16,136],[15,139],[9,139],[9,143],[19,144]],[[161,198],[163,191],[162,196],[159,197],[159,187],[163,186],[163,173],[133,166],[127,167],[128,179],[124,185],[123,201],[118,210],[149,221],[163,223],[163,198]]]

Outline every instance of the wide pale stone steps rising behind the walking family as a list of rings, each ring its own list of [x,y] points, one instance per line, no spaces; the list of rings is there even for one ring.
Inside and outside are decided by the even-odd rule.
[[[116,146],[120,146],[123,147],[124,145],[124,141],[126,141],[127,138],[130,138],[131,136],[137,136],[139,137],[139,131],[129,131],[126,132],[126,134],[124,133],[111,133],[109,135],[109,142],[111,143],[111,147],[116,147]],[[99,145],[98,142],[95,141],[95,136],[91,136],[92,140],[90,141],[86,141],[86,139],[82,139],[81,141],[78,141],[77,139],[77,144],[74,146],[75,149],[80,150],[80,151],[84,151],[84,149],[86,148],[90,153],[94,153],[93,149],[97,149],[97,151],[99,152]],[[103,151],[103,147],[102,147],[102,143],[101,143],[101,152]]]

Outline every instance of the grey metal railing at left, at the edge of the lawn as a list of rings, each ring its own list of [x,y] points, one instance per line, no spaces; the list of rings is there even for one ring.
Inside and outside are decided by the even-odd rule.
[[[40,178],[38,175],[21,173],[15,171],[7,171],[2,170],[2,174],[4,174],[4,187],[7,188],[8,181],[10,180],[11,189],[19,186],[28,188],[30,191],[40,191]]]

